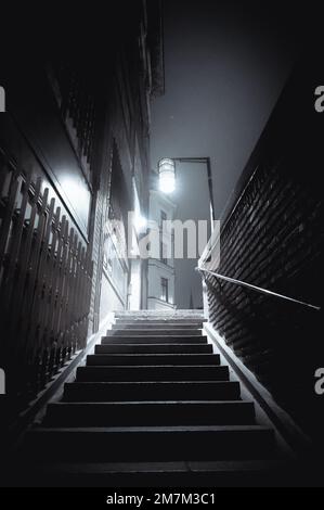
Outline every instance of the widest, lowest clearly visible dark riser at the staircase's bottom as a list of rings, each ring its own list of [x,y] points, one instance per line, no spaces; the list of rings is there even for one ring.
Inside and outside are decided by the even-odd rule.
[[[273,430],[259,425],[39,428],[27,433],[24,448],[47,461],[119,462],[257,460],[271,457],[274,449]]]

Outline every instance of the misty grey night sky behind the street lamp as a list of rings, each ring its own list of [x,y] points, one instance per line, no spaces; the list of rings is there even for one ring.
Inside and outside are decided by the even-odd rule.
[[[273,2],[165,0],[166,93],[152,107],[152,165],[160,157],[210,156],[217,217],[293,67],[297,31],[296,17]],[[187,189],[197,193],[204,166],[190,175],[185,192],[173,197],[178,216],[204,219],[208,207],[197,201],[187,207]],[[202,304],[194,266],[176,266],[179,308],[187,308],[191,289],[195,306]]]

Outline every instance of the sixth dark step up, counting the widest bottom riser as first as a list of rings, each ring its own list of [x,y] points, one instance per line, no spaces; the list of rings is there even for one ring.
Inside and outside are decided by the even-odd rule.
[[[94,354],[197,354],[212,353],[211,344],[113,344],[95,345]]]

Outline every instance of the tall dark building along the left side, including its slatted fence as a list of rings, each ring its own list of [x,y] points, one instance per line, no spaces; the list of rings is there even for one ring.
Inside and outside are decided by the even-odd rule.
[[[112,310],[146,307],[147,265],[129,257],[138,242],[129,212],[148,214],[150,101],[164,89],[161,9],[158,0],[125,8],[113,2],[105,30],[80,37],[78,52],[22,49],[1,64],[1,367],[22,400]]]

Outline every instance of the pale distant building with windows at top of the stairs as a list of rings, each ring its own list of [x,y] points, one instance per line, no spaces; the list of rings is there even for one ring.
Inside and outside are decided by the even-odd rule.
[[[174,303],[174,237],[164,221],[172,221],[176,204],[156,187],[150,190],[150,221],[159,229],[158,255],[148,259],[148,309],[173,309]],[[154,225],[154,224],[153,224]],[[166,226],[165,226],[166,227]]]

